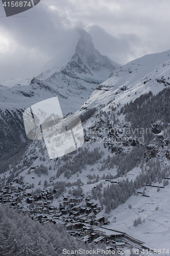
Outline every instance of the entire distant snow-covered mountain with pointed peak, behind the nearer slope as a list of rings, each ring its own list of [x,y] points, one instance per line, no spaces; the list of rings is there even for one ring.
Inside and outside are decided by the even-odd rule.
[[[58,96],[63,115],[74,113],[119,66],[95,50],[91,36],[79,30],[74,44],[48,61],[37,77],[0,82],[1,109],[27,109],[38,101]]]

